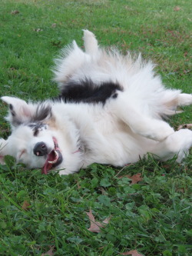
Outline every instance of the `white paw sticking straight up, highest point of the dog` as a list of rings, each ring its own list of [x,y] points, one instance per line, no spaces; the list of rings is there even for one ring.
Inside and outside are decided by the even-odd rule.
[[[98,41],[94,34],[87,29],[84,29],[84,49],[89,55],[95,55],[98,53]]]

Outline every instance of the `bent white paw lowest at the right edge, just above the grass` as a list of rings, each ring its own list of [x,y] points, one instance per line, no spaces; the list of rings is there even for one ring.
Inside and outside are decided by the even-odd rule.
[[[188,155],[191,147],[192,131],[181,129],[180,131],[175,131],[173,135],[170,135],[164,141],[157,143],[151,153],[160,158],[161,161],[167,161],[177,155],[177,161],[180,162]]]

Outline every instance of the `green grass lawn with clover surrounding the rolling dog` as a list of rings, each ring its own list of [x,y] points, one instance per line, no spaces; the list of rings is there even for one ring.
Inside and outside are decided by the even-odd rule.
[[[74,38],[82,45],[82,28],[93,31],[101,45],[142,52],[157,63],[168,87],[192,91],[187,0],[2,0],[0,9],[1,96],[57,95],[52,59]],[[0,108],[5,138],[6,106]],[[191,110],[184,108],[171,125],[191,123]],[[182,165],[151,158],[122,169],[94,164],[60,177],[25,170],[6,158],[0,166],[0,255],[41,255],[54,247],[54,255],[108,256],[135,249],[146,256],[189,256],[191,166],[192,155]],[[143,180],[135,185],[117,178],[137,173]],[[89,209],[97,221],[111,216],[98,234],[88,231]]]

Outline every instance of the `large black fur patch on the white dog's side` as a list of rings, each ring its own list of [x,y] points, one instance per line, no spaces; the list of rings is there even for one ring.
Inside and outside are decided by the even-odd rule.
[[[61,95],[58,99],[65,102],[85,102],[99,103],[103,105],[108,98],[117,98],[117,91],[123,91],[118,83],[112,81],[102,82],[100,85],[95,85],[91,79],[85,78],[79,82],[69,81],[61,90]]]

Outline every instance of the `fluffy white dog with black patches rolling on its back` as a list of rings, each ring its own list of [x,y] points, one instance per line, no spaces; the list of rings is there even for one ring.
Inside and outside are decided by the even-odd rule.
[[[147,153],[181,161],[192,146],[192,131],[174,131],[164,121],[192,95],[167,89],[154,65],[117,49],[98,47],[84,30],[84,49],[76,42],[56,60],[61,94],[40,103],[2,97],[12,135],[0,140],[0,159],[12,155],[28,168],[66,175],[92,163],[124,166]]]

